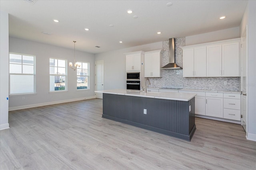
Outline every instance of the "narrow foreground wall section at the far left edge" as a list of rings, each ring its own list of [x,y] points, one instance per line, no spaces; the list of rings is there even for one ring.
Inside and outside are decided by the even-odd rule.
[[[0,130],[9,128],[9,21],[8,13],[0,11]]]

